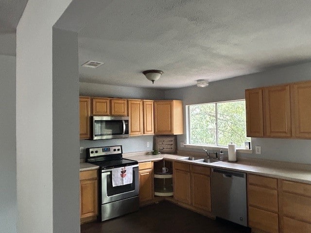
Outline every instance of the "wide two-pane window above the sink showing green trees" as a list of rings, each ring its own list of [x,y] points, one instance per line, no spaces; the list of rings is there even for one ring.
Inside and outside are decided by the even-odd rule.
[[[244,148],[246,137],[245,100],[188,105],[190,144]]]

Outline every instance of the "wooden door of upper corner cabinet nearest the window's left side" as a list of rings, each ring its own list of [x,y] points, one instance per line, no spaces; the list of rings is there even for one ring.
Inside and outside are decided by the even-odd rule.
[[[155,134],[173,134],[173,101],[155,101]]]

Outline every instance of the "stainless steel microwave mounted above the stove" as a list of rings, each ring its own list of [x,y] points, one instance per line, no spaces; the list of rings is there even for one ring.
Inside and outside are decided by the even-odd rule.
[[[92,116],[92,140],[126,138],[128,116]]]

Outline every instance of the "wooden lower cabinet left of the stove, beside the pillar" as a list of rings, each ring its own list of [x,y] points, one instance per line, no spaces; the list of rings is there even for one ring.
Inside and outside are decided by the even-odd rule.
[[[98,215],[97,170],[80,172],[80,219],[92,220]],[[87,221],[86,220],[86,221]]]

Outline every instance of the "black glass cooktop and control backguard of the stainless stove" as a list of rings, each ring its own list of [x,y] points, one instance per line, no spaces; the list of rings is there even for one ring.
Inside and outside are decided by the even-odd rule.
[[[87,148],[86,152],[86,162],[100,166],[100,169],[138,164],[135,160],[122,158],[122,146]]]

